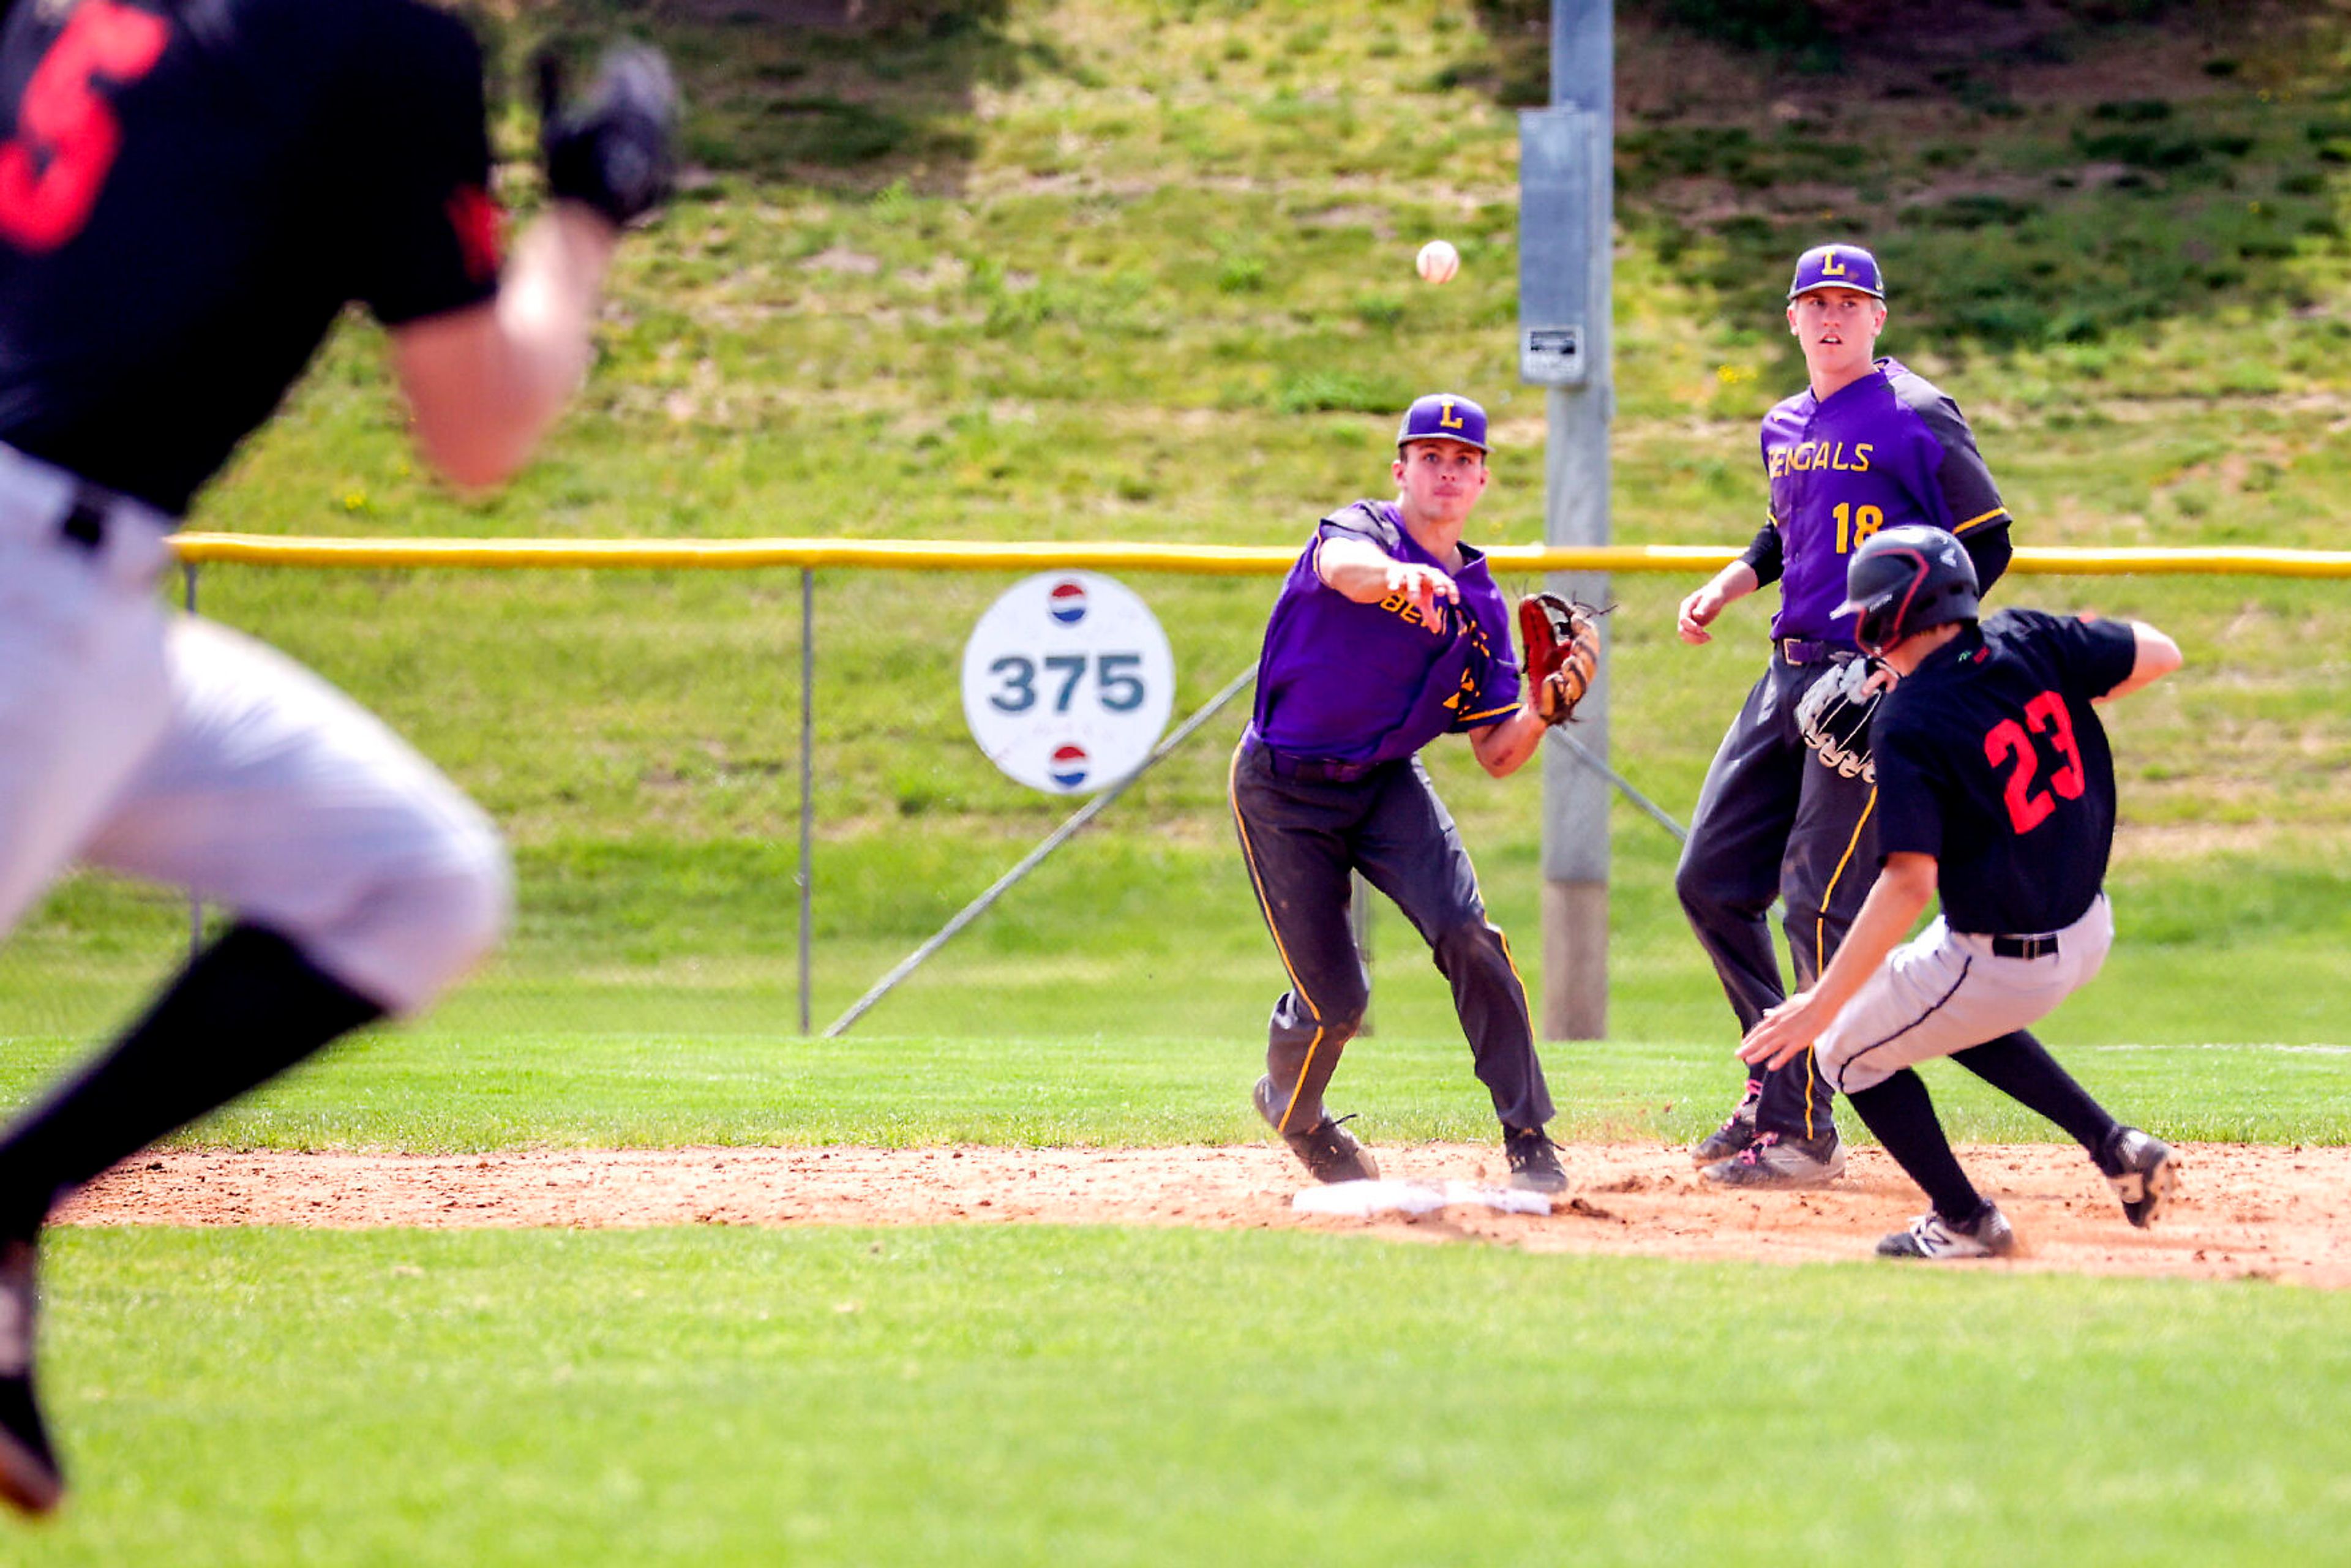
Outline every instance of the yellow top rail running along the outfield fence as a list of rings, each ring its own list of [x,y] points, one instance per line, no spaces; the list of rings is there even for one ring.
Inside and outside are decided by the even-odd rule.
[[[950,543],[926,538],[296,538],[287,534],[176,534],[188,564],[242,567],[602,567],[750,569],[877,567],[898,571],[1180,571],[1279,576],[1295,545]],[[1493,545],[1495,571],[1714,571],[1737,545]],[[2351,578],[2351,550],[2071,550],[2024,545],[2010,571],[2043,576],[2299,576]]]

